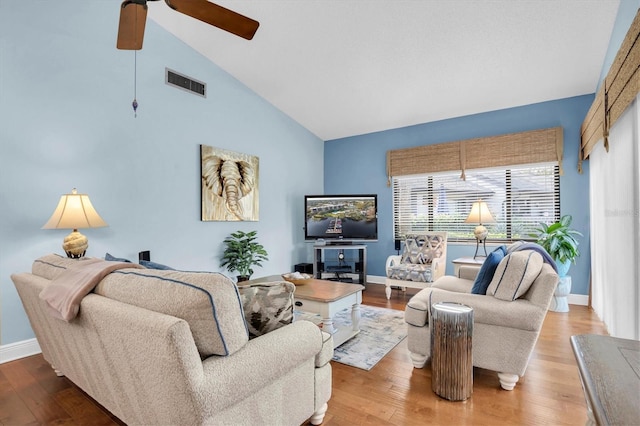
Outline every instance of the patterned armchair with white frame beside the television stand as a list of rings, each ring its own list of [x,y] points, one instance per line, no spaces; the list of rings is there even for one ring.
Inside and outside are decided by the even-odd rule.
[[[391,298],[391,287],[426,288],[444,275],[447,266],[447,233],[430,232],[408,235],[402,255],[387,258],[385,293]]]

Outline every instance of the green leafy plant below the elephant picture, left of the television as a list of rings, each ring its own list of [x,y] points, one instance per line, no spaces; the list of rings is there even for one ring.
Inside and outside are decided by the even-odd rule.
[[[246,281],[253,274],[254,266],[262,266],[268,259],[267,251],[257,240],[258,231],[236,231],[225,238],[225,249],[220,266],[229,272],[238,272],[238,281]]]

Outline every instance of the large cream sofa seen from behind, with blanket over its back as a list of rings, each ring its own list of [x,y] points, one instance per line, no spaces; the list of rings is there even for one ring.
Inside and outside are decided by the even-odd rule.
[[[44,256],[12,279],[44,358],[125,423],[322,422],[333,341],[311,322],[250,340],[238,289],[224,275],[137,265],[99,279],[75,318],[56,318],[43,290],[80,264]]]

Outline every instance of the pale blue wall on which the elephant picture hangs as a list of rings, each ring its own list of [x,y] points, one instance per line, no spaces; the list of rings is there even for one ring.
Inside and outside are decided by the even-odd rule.
[[[67,230],[42,230],[61,194],[88,193],[105,252],[218,271],[221,241],[258,230],[257,274],[305,260],[303,195],[323,191],[323,142],[148,20],[138,53],[115,48],[120,2],[0,0],[0,319],[5,345],[33,333],[10,280],[62,253]],[[167,86],[169,67],[208,84],[203,99]],[[260,220],[200,221],[199,145],[260,159]]]

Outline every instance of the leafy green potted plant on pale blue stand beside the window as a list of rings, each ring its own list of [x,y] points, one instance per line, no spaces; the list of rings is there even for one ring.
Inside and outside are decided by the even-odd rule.
[[[578,240],[575,236],[582,236],[582,234],[570,228],[571,220],[571,215],[564,215],[560,221],[551,225],[540,223],[536,228],[536,233],[530,234],[537,238],[537,243],[556,261],[558,275],[561,277],[567,275],[571,263],[575,263],[576,258],[580,256]]]

